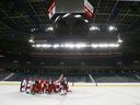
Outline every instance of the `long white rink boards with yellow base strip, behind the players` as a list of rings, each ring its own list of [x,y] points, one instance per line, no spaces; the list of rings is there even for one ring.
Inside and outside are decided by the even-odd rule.
[[[11,82],[11,81],[0,81],[0,85],[20,85],[21,82]],[[69,86],[96,86],[95,83],[83,83],[75,82],[69,83]],[[97,86],[140,86],[140,82],[137,83],[97,83]]]

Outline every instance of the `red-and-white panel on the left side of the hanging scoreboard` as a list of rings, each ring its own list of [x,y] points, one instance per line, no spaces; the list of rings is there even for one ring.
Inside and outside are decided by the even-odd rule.
[[[56,0],[52,0],[52,3],[48,8],[48,16],[49,16],[49,19],[51,19],[55,13],[56,13]]]

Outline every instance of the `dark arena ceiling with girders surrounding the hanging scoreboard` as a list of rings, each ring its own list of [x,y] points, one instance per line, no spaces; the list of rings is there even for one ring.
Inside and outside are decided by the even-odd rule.
[[[122,38],[122,50],[125,52],[139,54],[140,51],[140,2],[126,2],[116,0],[89,0],[94,7],[94,18],[89,24],[95,24],[103,28],[101,32],[91,32],[89,35],[84,24],[83,28],[75,32],[84,38],[96,39],[98,36],[108,37],[110,33],[104,30],[109,25],[115,25]],[[54,25],[54,20],[49,20],[47,9],[51,0],[1,0],[0,1],[0,47],[1,50],[26,51],[31,50],[28,39],[33,34],[36,40],[48,40],[62,38],[66,35],[60,30],[58,35],[46,32],[46,27]],[[56,14],[57,18],[59,14]],[[78,20],[77,20],[78,21]],[[81,22],[82,23],[82,22]],[[81,26],[78,23],[78,26]],[[80,24],[80,25],[79,25]],[[32,30],[35,28],[34,33]],[[65,28],[61,27],[60,28]],[[68,32],[70,33],[70,32]],[[68,34],[67,33],[67,34]],[[89,33],[89,32],[88,32]],[[79,37],[78,37],[79,38]],[[80,36],[81,38],[81,36]]]

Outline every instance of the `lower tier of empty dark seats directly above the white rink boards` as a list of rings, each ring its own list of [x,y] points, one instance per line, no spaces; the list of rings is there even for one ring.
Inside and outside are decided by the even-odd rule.
[[[0,81],[8,77],[10,71],[0,71]],[[14,73],[13,77],[7,79],[7,81],[21,81],[23,79],[54,79],[57,80],[60,74],[26,74],[26,73]],[[95,82],[140,82],[140,74],[92,74]],[[93,82],[88,74],[79,75],[67,75],[69,82]]]

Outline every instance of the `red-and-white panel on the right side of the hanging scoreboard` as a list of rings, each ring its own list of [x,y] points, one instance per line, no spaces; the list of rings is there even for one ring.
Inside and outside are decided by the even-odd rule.
[[[92,7],[92,4],[88,0],[84,0],[84,12],[88,18],[93,18],[93,10],[94,8]]]

